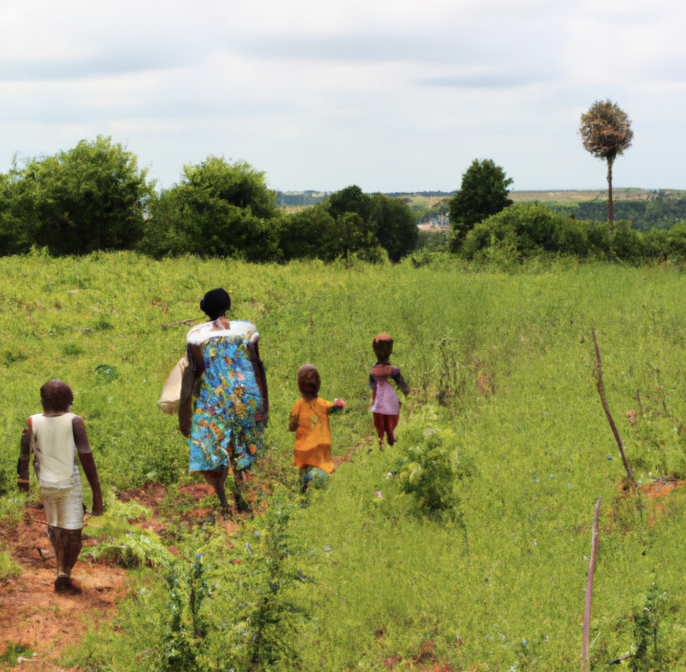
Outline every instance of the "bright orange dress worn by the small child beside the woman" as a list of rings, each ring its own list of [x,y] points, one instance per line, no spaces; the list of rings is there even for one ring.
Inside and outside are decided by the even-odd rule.
[[[329,412],[334,404],[321,397],[306,402],[300,397],[293,406],[289,427],[296,427],[296,467],[318,467],[333,473]]]

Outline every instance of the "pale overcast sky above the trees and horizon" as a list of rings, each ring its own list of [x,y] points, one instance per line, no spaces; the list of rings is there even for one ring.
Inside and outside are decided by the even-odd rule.
[[[0,0],[0,172],[111,135],[158,185],[208,154],[279,189],[602,188],[576,131],[611,98],[615,185],[686,188],[676,0]]]

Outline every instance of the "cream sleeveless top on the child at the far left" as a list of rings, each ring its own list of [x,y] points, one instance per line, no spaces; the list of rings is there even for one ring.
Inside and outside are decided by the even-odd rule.
[[[31,416],[40,487],[59,490],[73,485],[76,449],[71,425],[73,417],[73,413],[52,417],[42,413]]]

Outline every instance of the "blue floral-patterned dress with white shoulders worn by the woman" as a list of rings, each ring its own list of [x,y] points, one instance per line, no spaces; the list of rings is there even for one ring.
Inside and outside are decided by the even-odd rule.
[[[259,334],[247,321],[231,321],[230,329],[211,330],[204,323],[188,334],[200,347],[204,374],[193,413],[189,446],[190,472],[210,471],[233,463],[245,469],[257,459],[264,432],[262,396],[250,361],[248,344]],[[197,350],[196,350],[197,351]]]

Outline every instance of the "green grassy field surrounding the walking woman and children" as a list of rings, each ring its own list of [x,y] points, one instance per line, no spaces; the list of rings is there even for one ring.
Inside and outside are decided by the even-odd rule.
[[[106,487],[188,478],[185,442],[155,403],[185,330],[160,327],[199,316],[208,289],[224,286],[230,317],[257,325],[270,385],[257,470],[276,492],[268,512],[243,524],[228,550],[221,530],[177,531],[187,564],[132,572],[145,590],[121,606],[121,629],[92,632],[68,662],[120,671],[580,669],[591,518],[602,496],[593,669],[636,652],[641,637],[649,651],[657,641],[657,653],[633,669],[686,668],[686,490],[677,483],[665,497],[636,498],[624,489],[591,340],[596,327],[608,404],[637,480],[686,478],[686,278],[677,270],[250,266],[126,253],[5,257],[0,268],[8,510],[25,417],[40,410],[38,388],[53,377],[75,390],[73,411],[86,419]],[[287,432],[296,371],[316,364],[322,397],[348,403],[332,420],[335,455],[370,444],[367,378],[379,332],[394,336],[392,362],[412,389],[399,442],[383,454],[358,450],[302,500]],[[426,515],[399,483],[399,459],[432,428],[454,432],[462,478],[450,514]],[[197,613],[178,597],[186,611],[174,621],[165,576],[177,596],[212,592]],[[647,612],[647,636],[639,625],[653,584],[661,598]],[[144,649],[152,652],[134,662]]]

